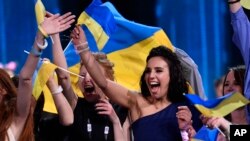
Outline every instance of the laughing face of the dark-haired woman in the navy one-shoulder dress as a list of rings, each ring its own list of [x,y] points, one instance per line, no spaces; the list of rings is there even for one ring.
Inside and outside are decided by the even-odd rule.
[[[161,57],[148,60],[145,81],[151,96],[155,99],[166,98],[170,81],[169,66]]]

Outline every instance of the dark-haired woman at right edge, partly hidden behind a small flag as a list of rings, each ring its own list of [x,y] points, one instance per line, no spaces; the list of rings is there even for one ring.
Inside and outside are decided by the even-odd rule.
[[[236,66],[229,68],[228,73],[225,75],[223,82],[223,95],[229,94],[231,92],[239,92],[244,95],[244,78],[245,78],[246,68],[245,66]],[[217,137],[218,141],[225,141],[229,137],[229,125],[230,124],[248,124],[247,122],[247,112],[246,107],[240,107],[227,116],[223,117],[204,117],[202,116],[202,121],[204,124],[211,128],[219,127],[225,131],[226,137],[219,134]]]

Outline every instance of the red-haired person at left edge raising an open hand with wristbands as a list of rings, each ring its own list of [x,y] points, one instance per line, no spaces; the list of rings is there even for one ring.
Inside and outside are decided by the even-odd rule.
[[[0,140],[33,141],[32,75],[47,47],[45,36],[64,31],[74,22],[74,16],[66,13],[45,18],[39,25],[39,31],[28,58],[19,74],[18,88],[9,75],[0,69]]]

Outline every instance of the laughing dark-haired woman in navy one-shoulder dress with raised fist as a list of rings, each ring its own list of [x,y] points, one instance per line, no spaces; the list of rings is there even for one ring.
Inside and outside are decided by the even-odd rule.
[[[192,115],[194,127],[202,126],[199,113],[193,107],[190,112],[183,96],[188,92],[187,82],[180,61],[171,50],[159,46],[150,51],[141,77],[141,93],[138,93],[105,78],[80,27],[75,27],[71,37],[82,63],[101,90],[112,101],[129,109],[135,141],[182,140],[181,133],[192,124]]]

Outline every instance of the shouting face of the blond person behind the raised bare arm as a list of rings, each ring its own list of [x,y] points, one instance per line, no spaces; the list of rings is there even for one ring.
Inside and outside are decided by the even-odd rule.
[[[100,68],[102,73],[104,73],[103,68]],[[84,78],[79,78],[78,85],[83,92],[84,98],[88,102],[97,102],[102,96],[102,91],[96,85],[84,66],[81,66],[80,75]]]

